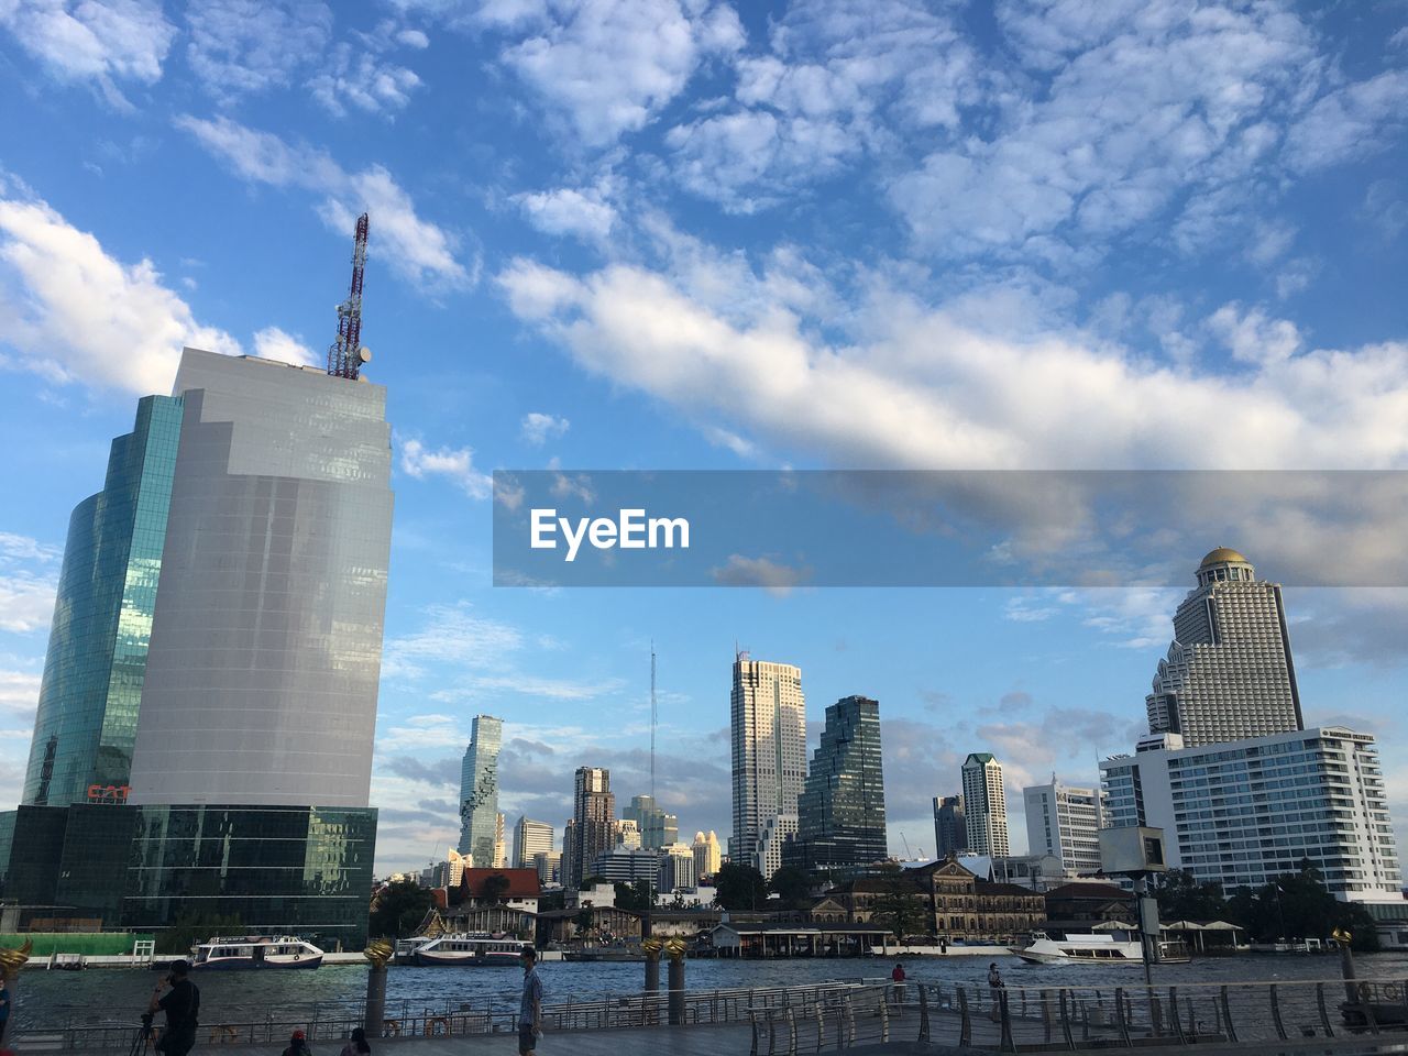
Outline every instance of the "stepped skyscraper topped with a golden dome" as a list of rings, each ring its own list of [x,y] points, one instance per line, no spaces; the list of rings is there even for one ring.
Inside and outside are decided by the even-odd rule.
[[[1173,617],[1173,643],[1145,698],[1150,734],[1187,748],[1302,729],[1281,587],[1219,546]]]

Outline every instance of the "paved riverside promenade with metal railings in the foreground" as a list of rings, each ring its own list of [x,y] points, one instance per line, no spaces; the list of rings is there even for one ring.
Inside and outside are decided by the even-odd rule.
[[[679,998],[680,994],[676,994]],[[203,1022],[197,1050],[269,1052],[303,1029],[315,1052],[337,1052],[365,1008],[321,1008],[315,1018],[270,1014],[259,1022]],[[1408,1052],[1404,980],[1238,981],[1115,987],[939,986],[883,980],[807,987],[601,994],[543,1008],[543,1053],[634,1056],[670,1052],[798,1056],[877,1052],[1091,1052],[1197,1049],[1252,1052]],[[477,1056],[515,1045],[504,1001],[389,1010],[373,1052]],[[35,1024],[13,1039],[25,1053],[127,1053],[135,1025]],[[141,1046],[138,1046],[141,1053]]]

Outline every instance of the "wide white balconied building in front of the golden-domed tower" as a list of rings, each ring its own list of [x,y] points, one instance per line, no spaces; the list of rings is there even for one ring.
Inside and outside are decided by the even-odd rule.
[[[1309,860],[1342,901],[1402,905],[1378,749],[1343,727],[1186,748],[1150,735],[1100,765],[1105,824],[1164,829],[1169,865],[1260,887]]]

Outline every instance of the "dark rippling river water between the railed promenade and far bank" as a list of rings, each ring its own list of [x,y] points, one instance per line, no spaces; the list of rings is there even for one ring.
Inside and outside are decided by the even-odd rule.
[[[1014,956],[998,957],[1010,987],[1115,986],[1142,980],[1132,967],[1094,964],[1035,966]],[[904,957],[912,983],[981,984],[988,957]],[[1373,953],[1356,957],[1360,979],[1408,979],[1408,953]],[[888,977],[891,960],[880,957],[826,960],[689,960],[686,987],[793,987],[824,980]],[[206,1022],[263,1022],[268,1017],[298,1018],[315,1008],[353,1005],[366,994],[365,964],[327,964],[315,972],[213,972],[194,973],[201,990]],[[539,966],[548,1001],[589,1000],[603,994],[635,993],[645,969],[639,963],[567,963]],[[662,966],[662,983],[665,970]],[[45,972],[27,969],[14,988],[15,1015],[28,1025],[65,1021],[135,1025],[146,1008],[158,973],[144,969],[86,969]],[[514,1007],[520,969],[391,966],[387,977],[387,1015],[420,1014],[459,1005]],[[1246,983],[1339,979],[1339,957],[1256,956],[1202,957],[1190,964],[1155,967],[1157,986],[1190,983]]]

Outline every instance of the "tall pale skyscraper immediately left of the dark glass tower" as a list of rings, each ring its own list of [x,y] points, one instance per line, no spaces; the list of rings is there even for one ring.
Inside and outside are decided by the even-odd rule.
[[[729,859],[770,877],[786,838],[797,831],[797,797],[807,779],[807,701],[801,670],[739,653],[729,698],[734,835]]]

